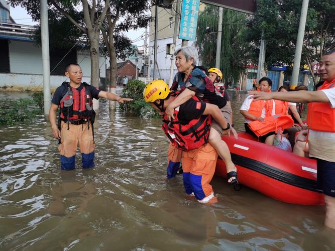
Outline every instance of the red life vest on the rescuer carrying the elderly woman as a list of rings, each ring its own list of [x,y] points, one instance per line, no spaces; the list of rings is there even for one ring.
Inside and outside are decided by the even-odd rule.
[[[171,93],[171,96],[178,95],[178,92]],[[194,100],[200,100],[193,96]],[[180,121],[178,112],[180,106],[174,110],[174,120],[169,121],[164,115],[162,129],[173,145],[182,151],[197,149],[208,142],[211,116],[202,115],[190,121]]]

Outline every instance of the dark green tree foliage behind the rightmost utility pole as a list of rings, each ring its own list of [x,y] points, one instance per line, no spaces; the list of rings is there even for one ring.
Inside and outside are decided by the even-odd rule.
[[[257,62],[261,31],[266,40],[265,63],[291,65],[294,59],[302,0],[259,0],[257,14],[247,23],[246,40],[253,50],[250,54]],[[310,0],[304,34],[301,66],[318,62],[323,53],[335,47],[334,0]]]

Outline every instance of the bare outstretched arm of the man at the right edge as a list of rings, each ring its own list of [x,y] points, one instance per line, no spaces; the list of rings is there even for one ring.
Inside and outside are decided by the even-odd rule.
[[[292,92],[262,92],[248,91],[249,98],[257,100],[278,99],[289,102],[308,103],[308,102],[325,102],[329,103],[329,99],[323,91],[292,91]]]

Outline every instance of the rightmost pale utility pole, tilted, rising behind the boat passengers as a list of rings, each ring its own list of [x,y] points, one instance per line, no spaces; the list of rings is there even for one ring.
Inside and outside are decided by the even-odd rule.
[[[303,45],[303,35],[305,33],[307,11],[308,11],[308,0],[302,0],[298,37],[297,37],[297,43],[296,43],[296,46],[295,46],[293,71],[292,71],[292,78],[291,78],[291,82],[290,82],[290,89],[291,90],[294,89],[295,86],[297,86],[297,84],[298,84],[300,61],[301,61],[301,52],[302,52],[302,45]]]

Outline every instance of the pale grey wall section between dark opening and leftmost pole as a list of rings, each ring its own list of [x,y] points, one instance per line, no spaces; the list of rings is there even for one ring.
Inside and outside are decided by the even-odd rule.
[[[11,40],[9,54],[11,73],[43,73],[42,49],[35,43]]]

